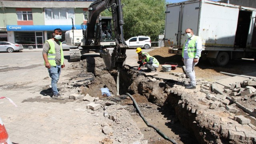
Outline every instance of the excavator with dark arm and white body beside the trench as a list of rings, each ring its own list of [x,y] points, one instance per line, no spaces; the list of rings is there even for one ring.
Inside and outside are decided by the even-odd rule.
[[[80,61],[81,55],[89,51],[100,52],[108,70],[122,68],[126,59],[124,41],[123,14],[121,0],[96,0],[88,7],[88,21],[81,29],[65,33],[66,44],[77,46],[70,49],[70,61]],[[108,9],[112,17],[101,17],[100,13]],[[113,24],[113,25],[112,25]],[[102,25],[107,25],[107,29]]]

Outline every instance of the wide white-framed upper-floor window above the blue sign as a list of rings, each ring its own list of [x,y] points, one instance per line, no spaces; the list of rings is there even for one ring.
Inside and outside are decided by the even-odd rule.
[[[46,20],[66,20],[74,18],[74,9],[46,8],[44,12]]]

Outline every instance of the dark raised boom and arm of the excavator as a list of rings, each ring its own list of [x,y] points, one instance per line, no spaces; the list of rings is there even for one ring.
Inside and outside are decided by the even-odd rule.
[[[113,28],[116,46],[114,47],[111,57],[111,68],[122,67],[123,62],[126,59],[126,48],[128,46],[124,42],[123,34],[123,14],[121,0],[96,0],[88,8],[88,21],[87,27],[84,34],[85,45],[93,45],[96,42],[97,29],[95,25],[98,20],[100,12],[104,10],[111,10],[113,19]]]

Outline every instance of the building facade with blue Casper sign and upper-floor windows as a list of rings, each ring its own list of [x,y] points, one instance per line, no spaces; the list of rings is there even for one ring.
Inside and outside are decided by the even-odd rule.
[[[65,32],[86,24],[88,7],[95,0],[0,0],[0,41],[42,48],[53,30]],[[72,24],[73,22],[73,24]]]

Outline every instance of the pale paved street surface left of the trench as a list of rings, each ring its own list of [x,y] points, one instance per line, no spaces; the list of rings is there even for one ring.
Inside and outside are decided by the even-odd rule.
[[[150,51],[153,49],[145,50]],[[126,64],[138,65],[135,49],[127,50]],[[62,69],[58,85],[63,87],[71,76],[78,74],[68,62],[69,51],[64,51],[66,67]],[[64,101],[53,100],[46,95],[50,78],[44,67],[41,51],[0,53],[0,117],[13,143],[19,144],[98,144],[105,134],[95,123],[100,116],[86,111],[86,105],[68,99],[76,92],[72,88],[63,88]],[[77,110],[79,109],[79,110]]]

